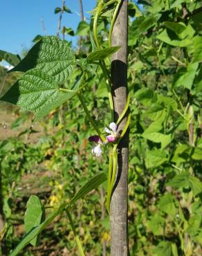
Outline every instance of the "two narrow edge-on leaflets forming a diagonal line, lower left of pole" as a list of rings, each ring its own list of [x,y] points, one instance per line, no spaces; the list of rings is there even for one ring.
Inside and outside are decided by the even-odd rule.
[[[42,230],[44,230],[44,228],[46,228],[46,226],[48,226],[48,224],[50,224],[50,222],[53,221],[55,217],[57,217],[57,215],[63,212],[64,208],[70,208],[73,203],[88,194],[91,190],[97,188],[100,184],[106,181],[106,179],[107,177],[104,172],[93,176],[92,179],[90,179],[84,186],[82,186],[82,188],[80,188],[80,190],[75,194],[75,196],[73,196],[68,204],[63,203],[62,205],[60,205],[59,208],[52,212],[43,223],[39,224],[39,226],[37,226],[36,228],[30,230],[30,232],[28,232],[28,234],[24,236],[24,238],[15,248],[15,250],[12,251],[10,256],[18,255],[21,250],[23,250],[23,248],[25,248],[25,246],[30,243],[30,241],[32,241],[37,235],[39,235],[39,233],[42,232]]]

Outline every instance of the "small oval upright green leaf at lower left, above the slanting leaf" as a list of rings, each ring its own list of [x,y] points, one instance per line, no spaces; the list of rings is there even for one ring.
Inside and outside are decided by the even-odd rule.
[[[24,214],[24,226],[26,233],[30,232],[36,226],[44,221],[45,211],[42,202],[37,196],[30,196],[26,204],[26,212]],[[33,246],[38,246],[39,236],[30,241]]]

